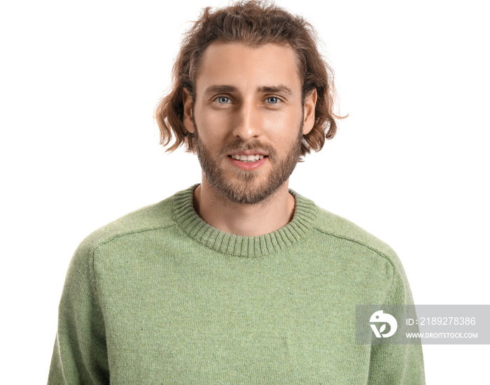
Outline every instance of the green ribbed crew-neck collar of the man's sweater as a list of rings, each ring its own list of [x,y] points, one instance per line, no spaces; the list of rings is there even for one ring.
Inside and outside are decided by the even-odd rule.
[[[274,254],[307,238],[316,217],[316,205],[293,190],[295,198],[293,220],[286,226],[265,235],[244,237],[220,231],[203,221],[194,210],[194,190],[200,184],[174,194],[174,219],[177,224],[202,245],[233,256],[257,257]]]

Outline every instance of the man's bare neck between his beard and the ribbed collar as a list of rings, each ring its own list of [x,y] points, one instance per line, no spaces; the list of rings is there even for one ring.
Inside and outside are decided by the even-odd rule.
[[[288,180],[267,201],[257,205],[223,202],[223,197],[202,178],[194,191],[194,207],[201,219],[225,233],[258,236],[286,226],[293,219],[295,199]]]

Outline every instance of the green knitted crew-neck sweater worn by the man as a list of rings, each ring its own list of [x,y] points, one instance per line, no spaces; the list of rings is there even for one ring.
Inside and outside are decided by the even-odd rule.
[[[356,344],[356,304],[413,303],[393,250],[295,191],[277,231],[218,231],[197,184],[89,235],[48,384],[424,384],[421,345]]]

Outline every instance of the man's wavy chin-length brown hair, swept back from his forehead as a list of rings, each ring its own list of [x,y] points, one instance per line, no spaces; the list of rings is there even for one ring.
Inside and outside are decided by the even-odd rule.
[[[304,18],[262,1],[240,1],[232,6],[212,10],[204,8],[200,18],[183,36],[179,55],[172,70],[172,91],[160,99],[155,108],[155,119],[160,129],[160,144],[166,147],[175,136],[167,152],[184,144],[193,152],[194,136],[183,126],[184,89],[195,99],[195,80],[204,50],[215,41],[245,43],[252,46],[276,43],[292,48],[299,62],[302,76],[302,102],[316,89],[315,123],[303,136],[301,156],[311,150],[319,151],[325,139],[337,131],[333,104],[335,88],[333,71],[318,52],[314,28]]]

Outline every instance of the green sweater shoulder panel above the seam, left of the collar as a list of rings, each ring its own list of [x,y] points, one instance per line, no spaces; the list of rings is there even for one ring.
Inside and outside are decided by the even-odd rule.
[[[172,215],[173,204],[174,196],[169,196],[163,201],[139,208],[111,221],[109,224],[90,233],[80,243],[78,251],[82,249],[85,252],[93,252],[100,245],[115,238],[174,226],[175,221]]]

